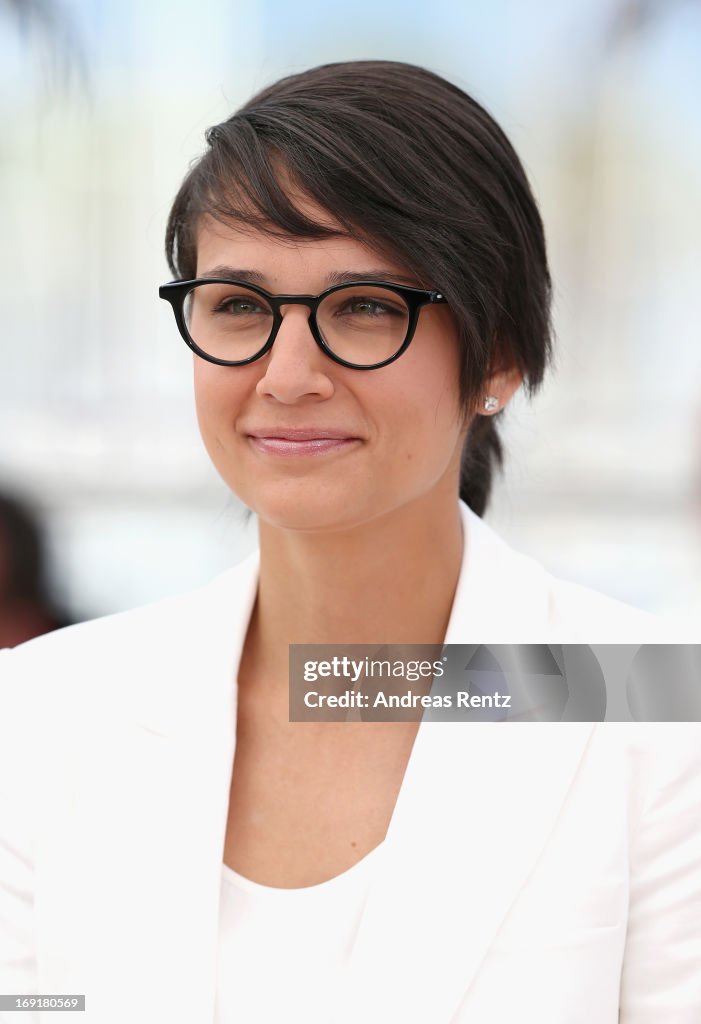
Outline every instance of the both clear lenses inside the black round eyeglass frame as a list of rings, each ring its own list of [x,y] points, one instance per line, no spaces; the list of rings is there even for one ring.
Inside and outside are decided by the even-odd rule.
[[[265,345],[273,327],[273,311],[263,296],[240,285],[198,285],[188,292],[184,309],[192,341],[218,359],[250,358]],[[409,312],[396,292],[353,286],[325,296],[316,323],[335,355],[356,366],[373,366],[401,348]]]

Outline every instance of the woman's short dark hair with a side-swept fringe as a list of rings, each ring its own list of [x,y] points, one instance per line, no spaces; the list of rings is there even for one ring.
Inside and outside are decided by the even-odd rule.
[[[542,221],[509,139],[466,92],[400,61],[321,65],[263,89],[206,138],[168,219],[175,276],[195,275],[203,215],[283,238],[337,233],[294,205],[283,172],[344,231],[445,295],[466,406],[496,359],[537,389],[553,349]],[[502,462],[500,415],[475,417],[463,452],[459,493],[478,515]]]

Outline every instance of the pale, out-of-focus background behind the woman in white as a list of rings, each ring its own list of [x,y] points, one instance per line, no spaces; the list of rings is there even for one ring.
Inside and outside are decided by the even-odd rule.
[[[0,617],[14,635],[37,629],[28,600],[46,628],[92,617],[255,546],[158,298],[166,218],[209,125],[282,75],[357,58],[420,63],[474,95],[545,222],[557,366],[506,414],[487,521],[560,575],[701,624],[700,54],[700,0],[0,0],[0,495],[15,509],[3,520],[0,504]],[[17,502],[35,520],[21,543]],[[38,567],[17,626],[20,554]]]

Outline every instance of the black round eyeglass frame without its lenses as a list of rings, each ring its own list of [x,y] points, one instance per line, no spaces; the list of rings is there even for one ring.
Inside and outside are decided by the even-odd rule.
[[[254,355],[249,355],[246,359],[220,359],[215,355],[209,355],[198,345],[187,330],[184,314],[185,297],[187,293],[198,285],[238,285],[240,288],[245,288],[250,292],[255,292],[257,295],[262,296],[262,298],[266,300],[272,309],[273,322],[268,340],[258,352]],[[383,288],[388,292],[396,293],[406,303],[409,317],[406,328],[406,337],[394,355],[391,355],[389,358],[383,359],[380,362],[373,362],[366,367],[350,362],[348,359],[344,359],[332,351],[326,342],[323,340],[323,336],[321,335],[316,322],[316,310],[327,295],[331,295],[334,292],[341,292],[344,289],[358,287]],[[244,367],[260,359],[263,355],[270,351],[279,329],[282,326],[283,316],[280,313],[280,306],[304,305],[309,307],[307,323],[314,341],[319,346],[321,351],[333,359],[334,362],[338,362],[342,367],[348,367],[351,370],[379,370],[381,367],[386,367],[390,362],[394,362],[395,359],[398,359],[399,356],[406,351],[417,330],[419,313],[424,306],[447,303],[447,299],[442,292],[436,291],[435,289],[412,288],[408,285],[394,285],[385,281],[353,281],[348,284],[333,285],[331,288],[326,288],[318,295],[272,295],[270,292],[266,292],[264,288],[259,288],[258,286],[251,285],[248,282],[235,281],[231,278],[193,278],[189,281],[170,281],[165,285],[161,285],[159,288],[159,296],[162,299],[165,299],[166,302],[169,302],[172,306],[173,313],[175,314],[175,323],[185,344],[195,353],[195,355],[201,356],[201,358],[206,359],[208,362],[215,362],[220,367]]]

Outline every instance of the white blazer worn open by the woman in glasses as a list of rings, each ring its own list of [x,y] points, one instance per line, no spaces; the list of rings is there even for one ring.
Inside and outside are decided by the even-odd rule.
[[[447,643],[656,635],[462,510]],[[0,652],[0,992],[85,993],[87,1024],[213,1020],[257,580],[254,554]],[[698,1024],[700,729],[425,722],[330,1024]]]

